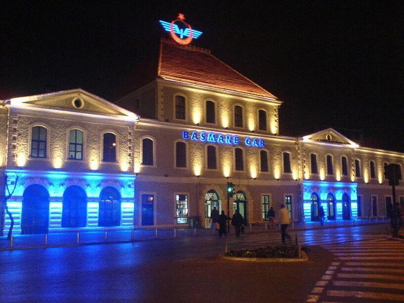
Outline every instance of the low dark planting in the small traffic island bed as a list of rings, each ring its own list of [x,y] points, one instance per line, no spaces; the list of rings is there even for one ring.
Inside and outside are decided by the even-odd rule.
[[[231,249],[226,257],[237,258],[299,258],[299,246],[267,246],[260,248]]]

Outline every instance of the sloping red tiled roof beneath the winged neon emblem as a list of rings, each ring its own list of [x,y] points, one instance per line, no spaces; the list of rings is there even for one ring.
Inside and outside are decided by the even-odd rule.
[[[262,97],[275,98],[258,84],[226,65],[209,51],[162,40],[158,76]]]

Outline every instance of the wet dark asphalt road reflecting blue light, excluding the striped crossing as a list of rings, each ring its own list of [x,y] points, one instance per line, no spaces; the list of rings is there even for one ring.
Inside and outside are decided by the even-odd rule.
[[[368,240],[385,226],[298,232],[305,263],[241,263],[229,248],[279,244],[279,233],[0,251],[0,301],[305,302],[336,257],[317,244]]]

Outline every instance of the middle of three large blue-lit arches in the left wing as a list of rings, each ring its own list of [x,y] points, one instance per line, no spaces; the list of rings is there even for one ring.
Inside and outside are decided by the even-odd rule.
[[[62,227],[85,227],[87,195],[80,186],[72,185],[63,193]]]

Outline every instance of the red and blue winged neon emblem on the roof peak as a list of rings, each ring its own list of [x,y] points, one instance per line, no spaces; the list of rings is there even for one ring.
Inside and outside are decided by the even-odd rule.
[[[171,38],[181,45],[187,45],[191,43],[192,39],[197,39],[201,34],[203,34],[201,31],[192,29],[192,27],[184,20],[184,14],[178,14],[177,19],[171,21],[171,23],[159,20],[164,30],[170,32]],[[181,23],[183,26],[185,26],[185,28],[180,28],[177,23]],[[184,38],[184,36],[186,38]]]

